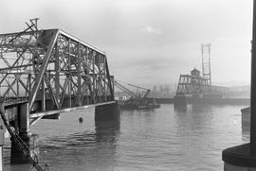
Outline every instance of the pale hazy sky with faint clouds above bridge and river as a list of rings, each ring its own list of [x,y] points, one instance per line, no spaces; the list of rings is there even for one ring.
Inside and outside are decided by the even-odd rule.
[[[35,17],[105,51],[126,82],[176,83],[211,43],[212,82],[249,83],[252,0],[1,0],[0,32]]]

